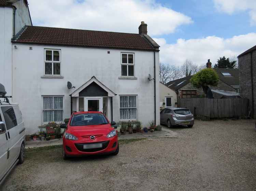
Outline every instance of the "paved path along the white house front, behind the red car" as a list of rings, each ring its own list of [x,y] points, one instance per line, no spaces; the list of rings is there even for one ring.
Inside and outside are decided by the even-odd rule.
[[[118,137],[119,140],[125,140],[125,139],[142,139],[142,138],[162,138],[162,137],[177,137],[178,134],[174,131],[171,131],[170,129],[166,127],[162,127],[162,131],[154,131],[153,133],[133,133],[133,134],[126,134],[121,135]],[[52,139],[49,141],[26,141],[25,149],[28,148],[34,148],[34,147],[42,147],[42,146],[53,146],[53,145],[61,145],[62,139]]]

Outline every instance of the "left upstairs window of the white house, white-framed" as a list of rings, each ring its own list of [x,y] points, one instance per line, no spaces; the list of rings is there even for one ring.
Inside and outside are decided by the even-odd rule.
[[[60,75],[60,50],[45,49],[44,75]]]

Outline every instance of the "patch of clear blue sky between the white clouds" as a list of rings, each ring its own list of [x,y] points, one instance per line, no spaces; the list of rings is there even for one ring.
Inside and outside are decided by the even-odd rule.
[[[157,36],[157,38],[165,38],[168,43],[174,43],[178,38],[190,39],[205,36],[230,38],[256,32],[256,25],[250,24],[247,11],[229,15],[218,11],[211,0],[158,0],[157,2],[191,17],[194,21],[192,24],[181,25],[173,34]]]

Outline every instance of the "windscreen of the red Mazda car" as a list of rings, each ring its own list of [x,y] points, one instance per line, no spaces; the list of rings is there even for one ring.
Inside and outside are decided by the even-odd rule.
[[[108,124],[108,121],[102,114],[77,114],[72,117],[70,126],[103,124]]]

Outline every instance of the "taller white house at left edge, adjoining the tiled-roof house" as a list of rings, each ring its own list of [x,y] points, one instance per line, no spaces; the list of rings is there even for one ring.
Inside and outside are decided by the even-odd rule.
[[[27,0],[0,0],[0,83],[12,95],[12,42],[24,27],[32,25]]]

